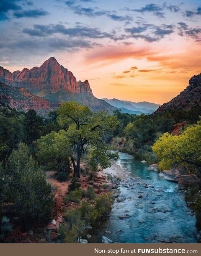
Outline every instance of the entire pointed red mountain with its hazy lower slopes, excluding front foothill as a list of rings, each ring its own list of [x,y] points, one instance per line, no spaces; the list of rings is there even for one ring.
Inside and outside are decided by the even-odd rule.
[[[13,73],[0,67],[0,82],[12,87],[23,87],[56,103],[75,100],[89,106],[93,111],[104,110],[112,113],[116,109],[106,101],[95,98],[88,80],[77,82],[72,72],[60,65],[54,57],[40,67],[25,68]]]

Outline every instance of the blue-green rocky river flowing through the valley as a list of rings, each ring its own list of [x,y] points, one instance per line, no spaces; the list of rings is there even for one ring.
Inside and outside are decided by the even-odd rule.
[[[116,163],[127,173],[118,187],[119,201],[124,201],[116,198],[93,242],[104,235],[114,243],[197,243],[196,218],[178,184],[161,179],[133,156],[119,157]],[[125,214],[129,217],[119,218]]]

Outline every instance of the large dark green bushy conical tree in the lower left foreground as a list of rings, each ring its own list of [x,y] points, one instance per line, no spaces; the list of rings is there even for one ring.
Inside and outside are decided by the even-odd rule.
[[[8,158],[5,183],[9,201],[14,203],[25,228],[33,222],[43,224],[49,220],[53,206],[51,186],[23,143]]]

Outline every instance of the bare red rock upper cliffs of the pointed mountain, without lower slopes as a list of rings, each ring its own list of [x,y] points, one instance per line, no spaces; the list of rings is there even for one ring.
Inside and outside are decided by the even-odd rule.
[[[54,57],[49,58],[40,67],[25,68],[13,73],[0,67],[0,81],[36,93],[42,90],[53,93],[62,90],[93,95],[87,80],[77,82],[72,72],[61,66]]]

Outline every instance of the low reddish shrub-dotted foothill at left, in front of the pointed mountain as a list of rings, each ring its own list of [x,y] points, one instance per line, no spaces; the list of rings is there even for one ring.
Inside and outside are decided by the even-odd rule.
[[[48,101],[31,94],[26,89],[21,87],[10,87],[1,82],[0,104],[20,111],[28,111],[29,109],[49,111],[52,109],[52,106]]]

